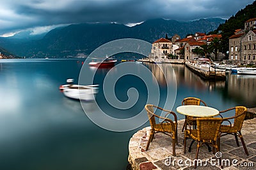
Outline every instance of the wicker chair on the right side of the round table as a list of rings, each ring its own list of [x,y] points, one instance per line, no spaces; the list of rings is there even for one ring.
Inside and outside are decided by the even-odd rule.
[[[235,114],[235,116],[232,116],[229,118],[223,118],[223,120],[228,121],[230,123],[230,125],[221,125],[220,137],[223,135],[227,135],[227,134],[235,135],[236,144],[237,144],[237,146],[239,146],[239,142],[238,142],[238,138],[237,138],[237,135],[238,135],[241,139],[241,142],[243,144],[243,148],[244,148],[246,155],[249,155],[248,150],[244,143],[243,135],[241,134],[241,128],[243,126],[243,121],[246,116],[247,108],[244,106],[232,107],[225,111],[220,111],[220,116],[223,117],[221,115],[221,113],[232,111],[232,110],[236,110],[236,114]],[[234,123],[232,124],[230,120],[234,120]]]

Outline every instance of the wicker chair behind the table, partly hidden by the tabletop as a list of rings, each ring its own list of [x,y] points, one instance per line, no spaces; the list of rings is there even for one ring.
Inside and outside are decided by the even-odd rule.
[[[207,106],[207,104],[205,104],[205,102],[203,100],[201,100],[200,98],[195,98],[195,97],[187,97],[184,98],[181,102],[182,105],[200,105],[200,104],[204,104],[205,106]],[[182,127],[182,132],[184,131],[184,128],[187,128],[187,122],[189,120],[193,119],[193,116],[185,116],[185,122],[184,125]]]

